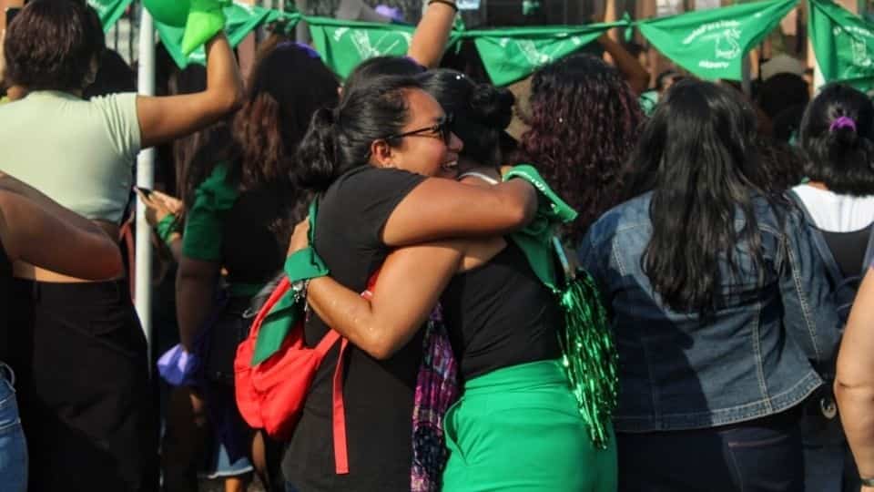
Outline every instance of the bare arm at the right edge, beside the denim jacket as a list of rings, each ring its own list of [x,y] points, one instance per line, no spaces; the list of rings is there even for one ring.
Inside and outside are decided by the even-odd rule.
[[[859,286],[838,353],[835,396],[860,477],[874,477],[874,272]],[[863,491],[874,487],[862,487]]]

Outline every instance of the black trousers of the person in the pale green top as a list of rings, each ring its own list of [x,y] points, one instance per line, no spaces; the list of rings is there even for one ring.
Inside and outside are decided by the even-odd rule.
[[[15,282],[30,492],[158,488],[146,338],[127,281]]]

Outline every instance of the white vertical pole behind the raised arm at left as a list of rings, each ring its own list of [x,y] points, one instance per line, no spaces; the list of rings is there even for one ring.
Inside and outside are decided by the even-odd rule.
[[[139,73],[137,87],[143,96],[155,95],[155,26],[152,15],[140,7],[139,17]],[[137,157],[137,186],[151,189],[155,182],[155,149],[143,149]],[[137,200],[136,247],[136,306],[148,344],[149,361],[152,355],[152,228],[146,221],[146,207]],[[149,364],[151,367],[151,364]]]

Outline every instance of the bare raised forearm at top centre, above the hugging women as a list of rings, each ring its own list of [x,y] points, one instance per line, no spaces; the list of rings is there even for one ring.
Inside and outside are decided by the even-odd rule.
[[[445,0],[429,3],[425,7],[407,53],[422,67],[434,68],[440,65],[457,12],[453,5],[455,0]]]

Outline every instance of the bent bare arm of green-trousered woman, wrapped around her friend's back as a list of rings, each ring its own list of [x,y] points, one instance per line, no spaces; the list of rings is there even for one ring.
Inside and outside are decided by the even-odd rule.
[[[320,277],[310,281],[307,302],[351,343],[376,359],[387,359],[428,319],[461,261],[457,241],[401,248],[382,264],[370,301],[330,277]]]

